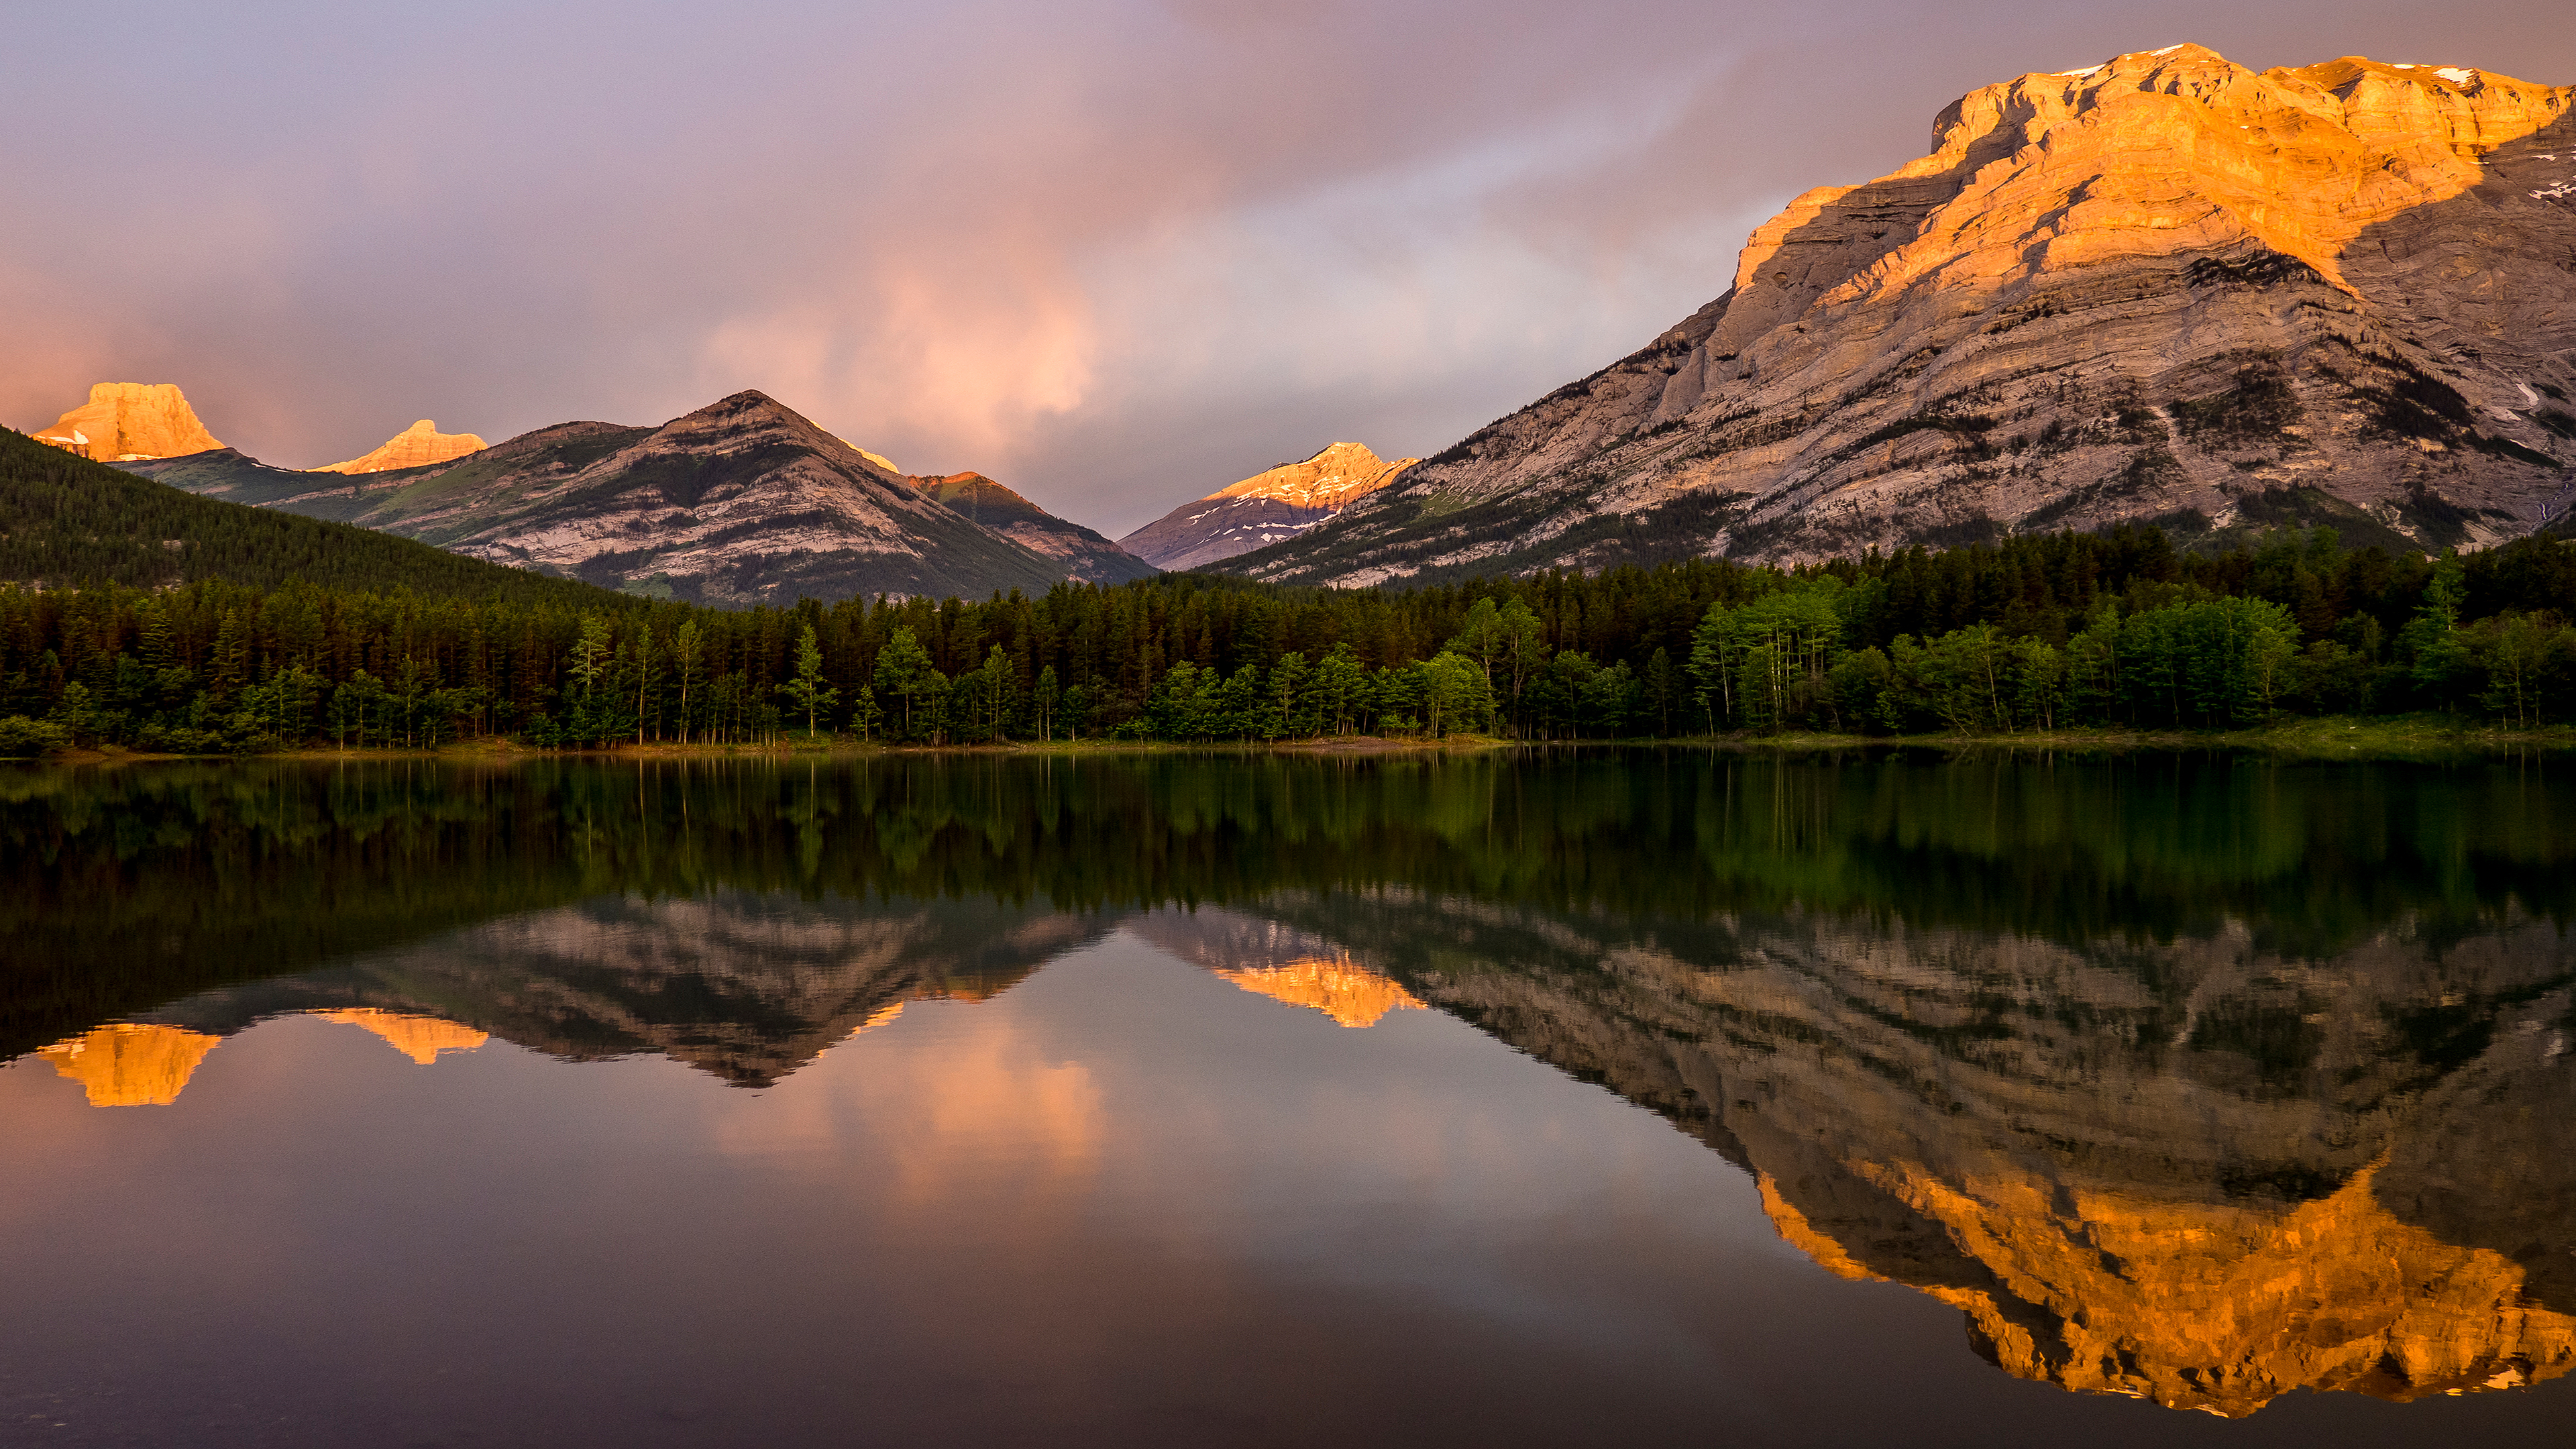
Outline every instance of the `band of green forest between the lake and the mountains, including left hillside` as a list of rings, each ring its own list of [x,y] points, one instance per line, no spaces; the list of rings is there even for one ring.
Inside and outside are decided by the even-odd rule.
[[[1419,590],[1206,575],[716,611],[191,498],[0,438],[0,753],[1520,740],[2576,717],[2576,544],[2156,529]]]

